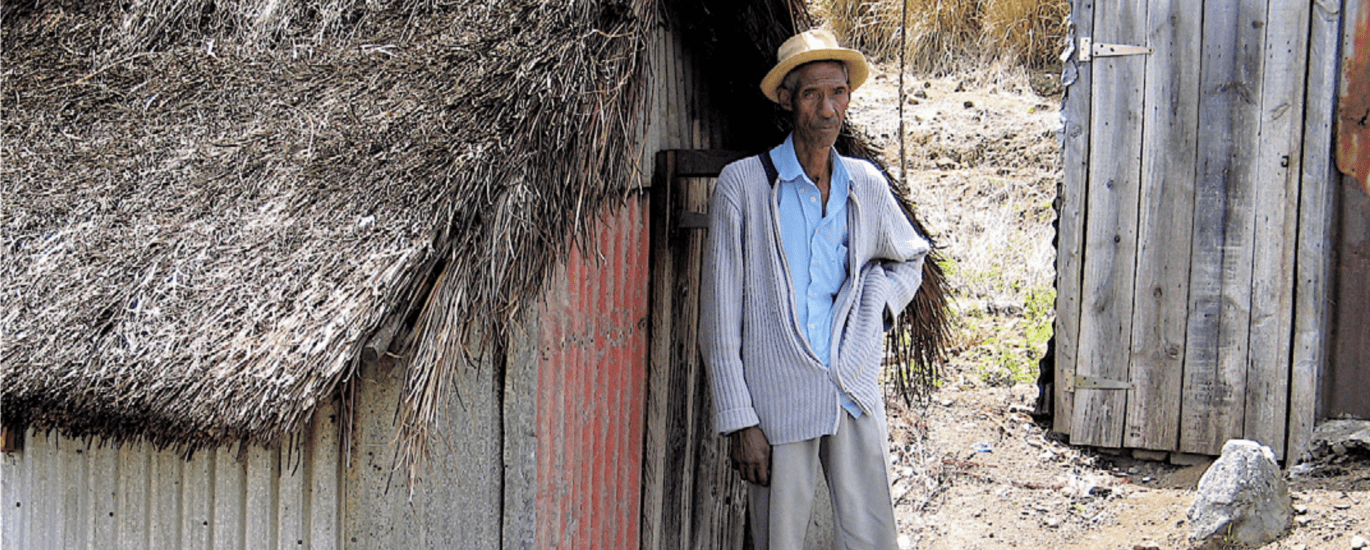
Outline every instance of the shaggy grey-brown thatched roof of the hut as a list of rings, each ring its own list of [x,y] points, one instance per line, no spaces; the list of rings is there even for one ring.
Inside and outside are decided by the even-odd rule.
[[[467,336],[499,342],[643,180],[658,14],[754,101],[807,25],[790,0],[660,3],[7,3],[3,421],[273,444],[399,326],[400,449],[422,464]],[[925,289],[906,320],[930,365],[947,320]]]

